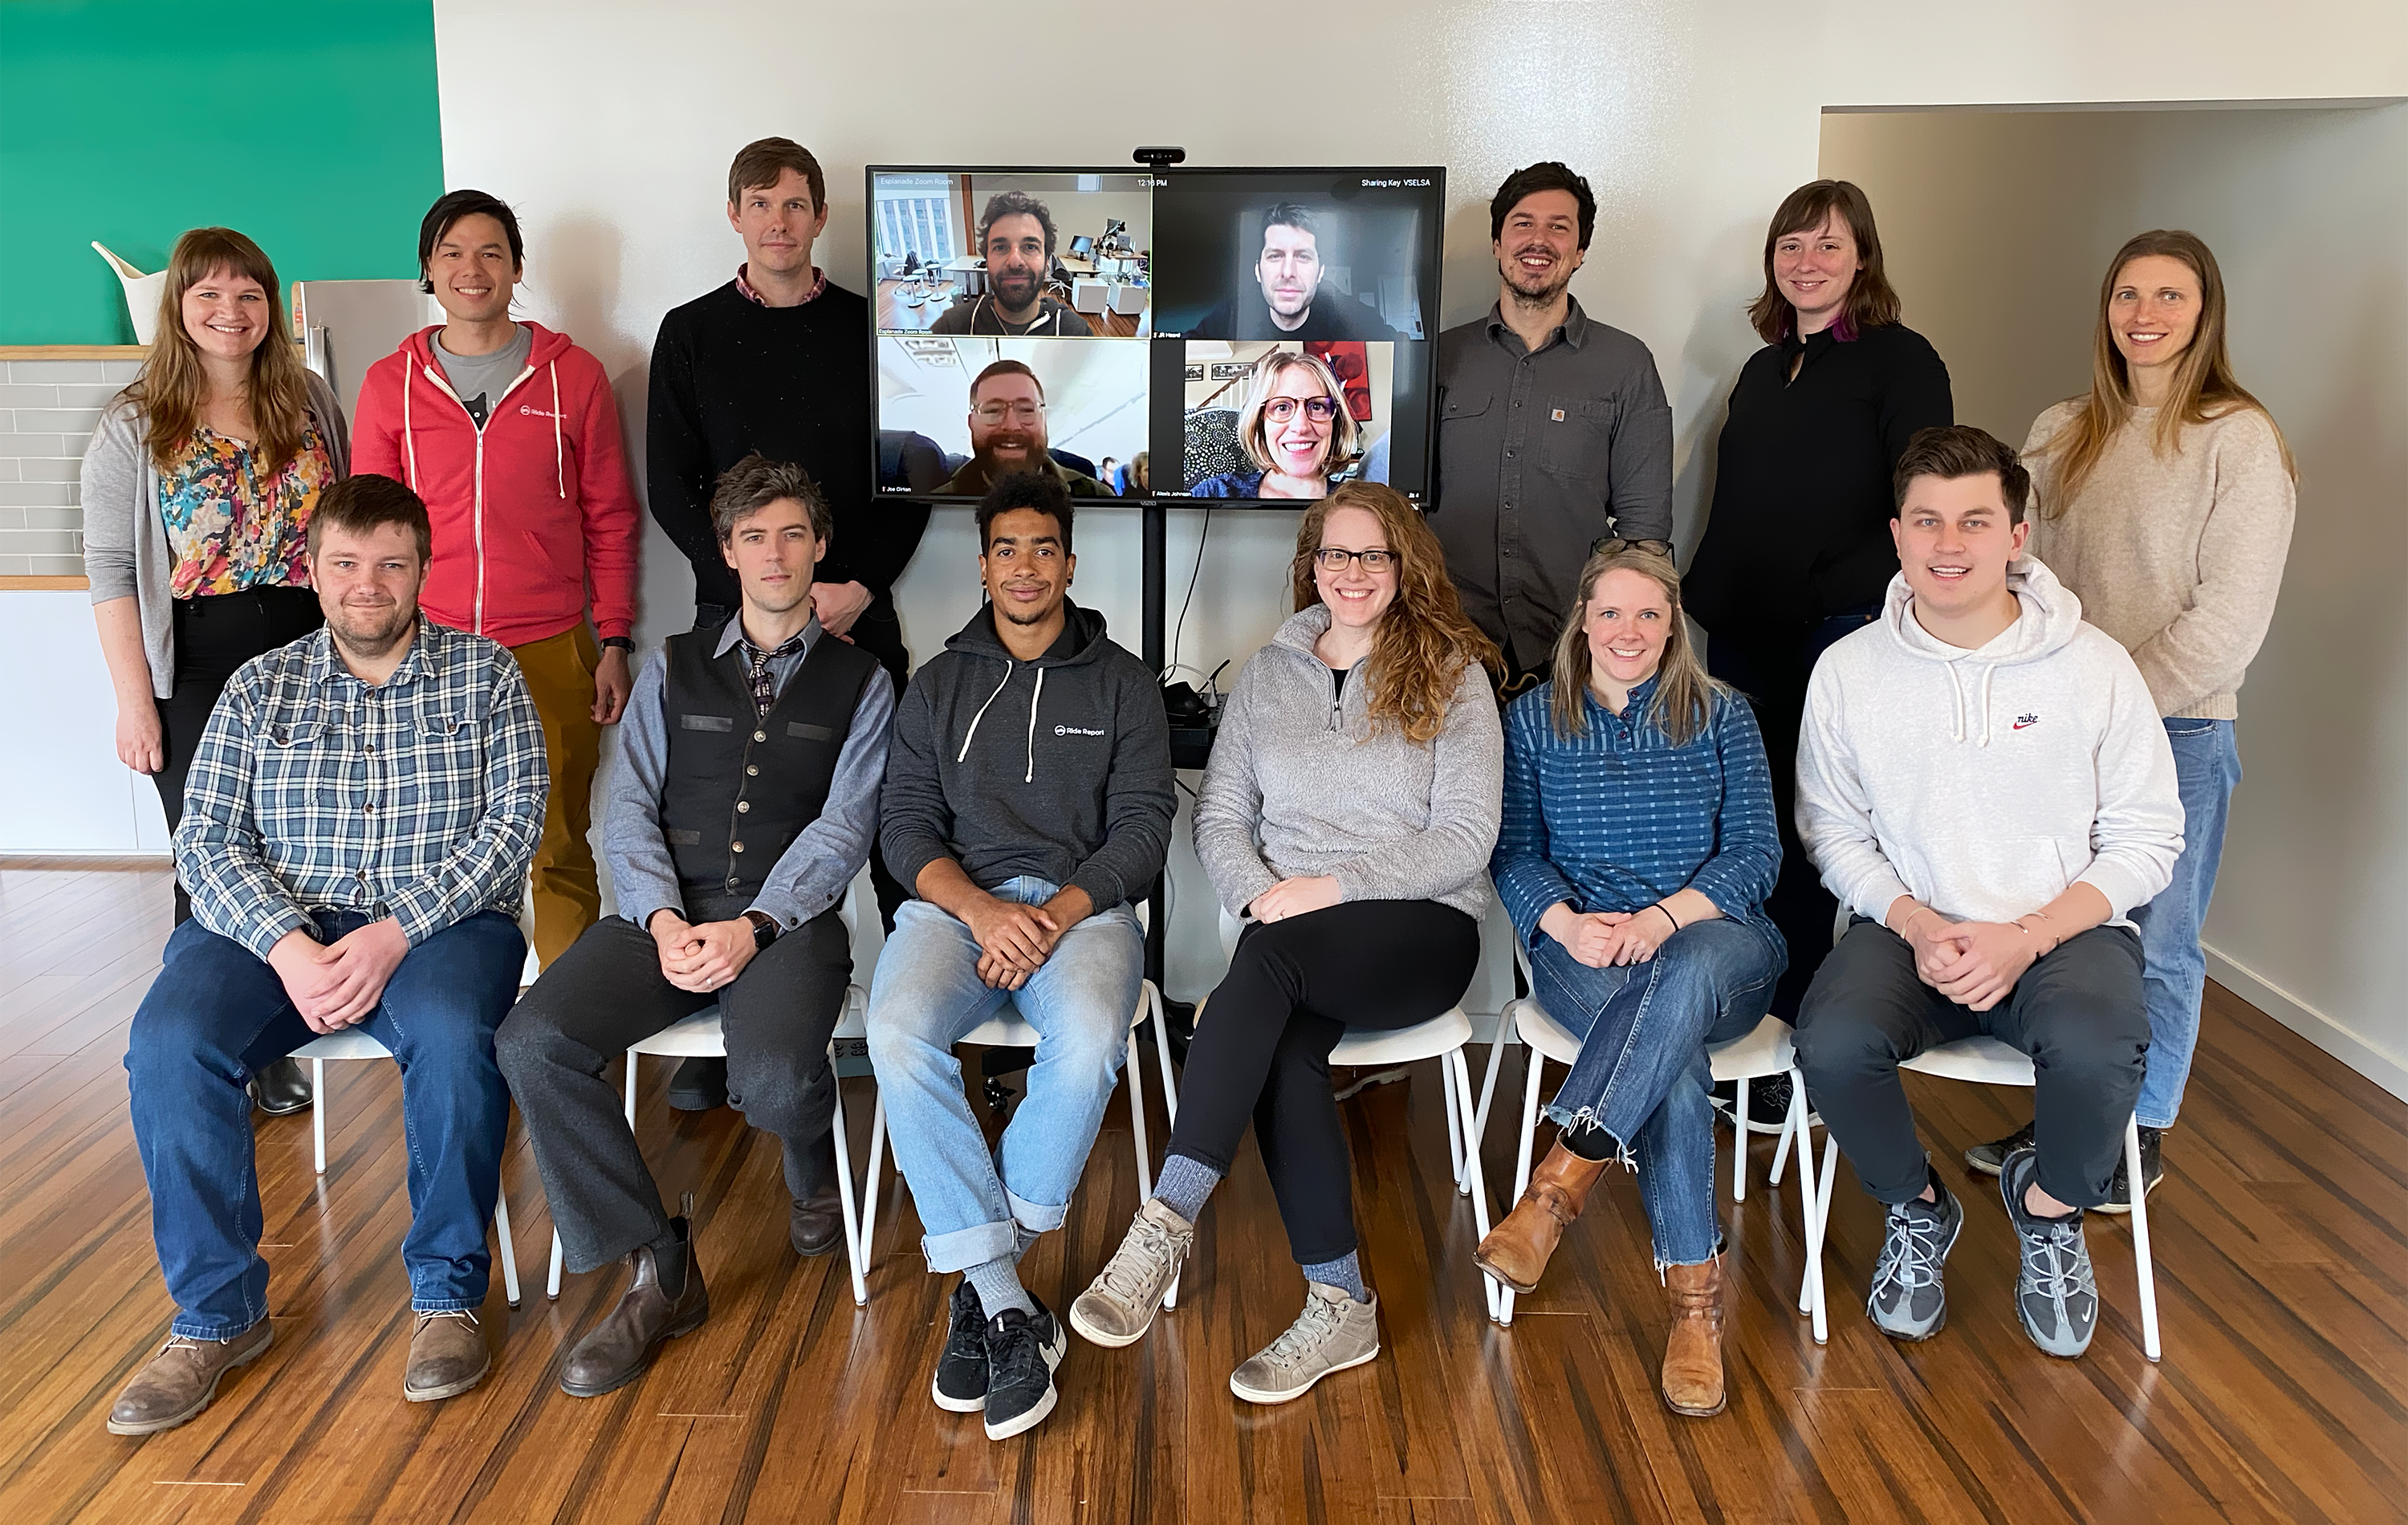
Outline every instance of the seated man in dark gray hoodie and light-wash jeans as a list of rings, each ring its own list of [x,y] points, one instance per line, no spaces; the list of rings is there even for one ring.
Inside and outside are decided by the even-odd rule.
[[[869,983],[869,1065],[927,1265],[963,1272],[937,1407],[982,1409],[1002,1441],[1055,1407],[1067,1335],[1014,1267],[1062,1226],[1112,1096],[1144,981],[1132,901],[1163,870],[1175,795],[1153,675],[1067,597],[1062,479],[999,479],[978,540],[987,607],[896,708],[879,850],[915,899]],[[997,1154],[954,1043],[1004,1002],[1038,1050]]]

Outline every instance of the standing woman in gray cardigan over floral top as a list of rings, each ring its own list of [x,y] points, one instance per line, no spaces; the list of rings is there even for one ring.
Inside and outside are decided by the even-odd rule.
[[[234,229],[188,231],[142,376],[84,451],[84,571],[118,691],[118,756],[159,785],[169,831],[226,679],[323,622],[308,516],[349,472],[349,438],[289,332],[260,246]],[[176,920],[190,913],[178,884]],[[311,1101],[291,1060],[262,1070],[253,1096],[275,1113]]]

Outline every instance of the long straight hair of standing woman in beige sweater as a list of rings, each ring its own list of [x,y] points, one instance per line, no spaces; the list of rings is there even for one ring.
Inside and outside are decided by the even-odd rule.
[[[2266,405],[2251,398],[2232,376],[2232,354],[2225,347],[2225,275],[2215,267],[2215,255],[2199,234],[2153,229],[2126,239],[2124,248],[2114,251],[2114,258],[2107,263],[2107,279],[2100,282],[2100,323],[2090,337],[2090,395],[2081,400],[2081,412],[2073,414],[2073,422],[2042,443],[2042,453],[2054,463],[2049,472],[2052,482],[2047,484],[2049,491],[2040,504],[2042,518],[2064,518],[2066,506],[2081,494],[2090,472],[2097,470],[2100,455],[2107,453],[2107,441],[2131,422],[2131,366],[2124,361],[2124,352],[2114,347],[2114,328],[2107,313],[2124,267],[2148,255],[2182,260],[2199,277],[2199,328],[2191,330],[2191,347],[2174,361],[2174,393],[2158,410],[2150,451],[2158,455],[2179,451],[2184,424],[2206,424],[2227,412],[2254,407],[2266,414],[2266,424],[2273,429],[2276,446],[2283,451],[2283,470],[2292,479],[2300,477],[2300,465],[2290,458],[2290,441],[2283,438],[2283,429],[2276,426]]]

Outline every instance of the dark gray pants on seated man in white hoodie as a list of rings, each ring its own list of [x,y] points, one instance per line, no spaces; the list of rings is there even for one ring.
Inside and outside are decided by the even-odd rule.
[[[1806,990],[1799,1070],[1876,1200],[1895,1207],[1929,1180],[1898,1065],[1977,1034],[2032,1055],[2040,1190],[2068,1207],[2105,1202],[2148,1055],[2141,940],[2131,928],[2068,937],[2006,1000],[1972,1012],[1917,978],[1902,937],[1859,918]]]

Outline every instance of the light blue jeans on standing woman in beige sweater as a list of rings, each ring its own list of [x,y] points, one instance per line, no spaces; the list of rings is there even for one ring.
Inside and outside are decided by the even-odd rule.
[[[2208,920],[2215,867],[2225,855],[2225,819],[2242,781],[2232,720],[2165,723],[2174,744],[2174,785],[2182,790],[2182,858],[2174,882],[2131,913],[2141,928],[2141,985],[2148,990],[2148,1077],[2141,1082],[2141,1127],[2172,1127],[2182,1087],[2191,1082],[2199,1048],[2199,997],[2208,988],[2208,956],[2199,928]]]

